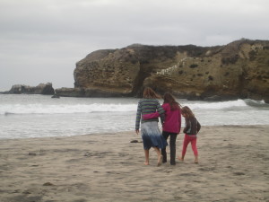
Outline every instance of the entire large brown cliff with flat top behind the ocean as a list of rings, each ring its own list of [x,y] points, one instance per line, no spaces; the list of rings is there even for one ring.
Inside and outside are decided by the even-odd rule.
[[[269,101],[269,41],[98,50],[76,64],[74,81],[82,96],[141,96],[150,86],[181,98]]]

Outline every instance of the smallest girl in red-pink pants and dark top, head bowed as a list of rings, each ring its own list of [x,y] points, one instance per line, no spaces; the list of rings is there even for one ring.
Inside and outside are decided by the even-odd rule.
[[[181,157],[178,156],[178,160],[184,161],[184,157],[187,151],[187,145],[191,143],[192,149],[195,154],[195,163],[198,163],[198,151],[196,147],[196,141],[197,141],[197,133],[199,132],[201,125],[195,119],[195,115],[187,106],[183,107],[181,109],[181,114],[185,118],[185,128],[183,132],[185,133],[184,142],[183,142],[183,148],[182,148],[182,155]]]

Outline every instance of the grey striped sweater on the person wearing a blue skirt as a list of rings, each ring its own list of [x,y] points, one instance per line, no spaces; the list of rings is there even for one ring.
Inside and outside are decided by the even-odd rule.
[[[140,127],[140,121],[150,122],[150,121],[159,121],[158,118],[155,119],[143,119],[142,116],[144,114],[150,114],[156,112],[156,110],[161,115],[161,124],[164,121],[164,110],[161,108],[161,104],[157,99],[142,99],[138,102],[137,112],[136,112],[136,120],[135,120],[135,129],[138,130]]]

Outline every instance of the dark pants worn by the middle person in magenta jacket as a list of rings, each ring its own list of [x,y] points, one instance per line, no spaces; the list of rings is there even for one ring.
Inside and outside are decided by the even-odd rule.
[[[178,134],[176,133],[169,133],[166,131],[162,131],[162,136],[167,140],[170,136],[170,164],[175,165],[176,164],[176,140]],[[162,162],[167,162],[167,154],[166,154],[166,147],[161,149],[161,154],[163,156]]]

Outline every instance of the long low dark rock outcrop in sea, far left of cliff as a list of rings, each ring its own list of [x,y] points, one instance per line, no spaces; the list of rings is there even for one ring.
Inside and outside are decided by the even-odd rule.
[[[10,91],[5,93],[12,94],[54,94],[54,88],[52,87],[52,83],[39,83],[38,86],[29,86],[23,84],[15,84],[11,88]]]

